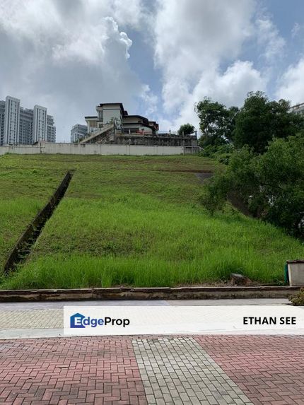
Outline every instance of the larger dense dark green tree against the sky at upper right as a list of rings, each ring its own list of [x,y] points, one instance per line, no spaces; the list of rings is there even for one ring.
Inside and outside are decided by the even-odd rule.
[[[235,118],[235,146],[247,145],[257,153],[264,153],[272,139],[296,135],[304,129],[304,117],[290,112],[290,107],[286,100],[269,101],[261,91],[248,93]]]

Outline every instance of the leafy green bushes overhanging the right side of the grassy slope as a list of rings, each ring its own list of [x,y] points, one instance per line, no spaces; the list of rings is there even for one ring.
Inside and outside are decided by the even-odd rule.
[[[226,170],[204,185],[201,202],[211,213],[233,192],[257,218],[304,238],[304,136],[275,139],[263,155],[243,147]]]

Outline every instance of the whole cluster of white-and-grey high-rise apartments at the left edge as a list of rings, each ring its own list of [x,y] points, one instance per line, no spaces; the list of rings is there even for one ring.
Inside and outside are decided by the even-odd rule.
[[[56,142],[54,117],[47,115],[47,108],[23,108],[18,98],[10,96],[0,100],[0,145],[31,145],[37,141]]]

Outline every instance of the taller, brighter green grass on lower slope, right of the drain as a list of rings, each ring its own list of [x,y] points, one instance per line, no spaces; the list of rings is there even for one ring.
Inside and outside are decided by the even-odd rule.
[[[241,214],[210,217],[147,196],[132,204],[66,199],[2,288],[177,286],[227,280],[230,272],[274,283],[300,250],[281,230]]]

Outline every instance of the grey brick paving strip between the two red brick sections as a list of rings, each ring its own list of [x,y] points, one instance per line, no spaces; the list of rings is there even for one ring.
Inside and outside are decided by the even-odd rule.
[[[194,339],[134,339],[132,343],[148,405],[252,405]]]

